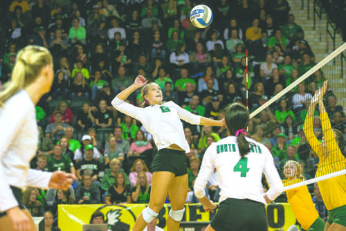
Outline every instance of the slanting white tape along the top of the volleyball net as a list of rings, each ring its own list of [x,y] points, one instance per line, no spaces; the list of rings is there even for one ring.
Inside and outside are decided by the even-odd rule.
[[[325,57],[324,59],[322,59],[318,64],[316,64],[315,66],[313,66],[313,68],[311,68],[309,71],[307,71],[306,73],[304,73],[304,75],[302,75],[301,77],[298,78],[298,80],[295,80],[295,82],[289,84],[289,86],[286,86],[285,89],[283,89],[282,91],[280,91],[280,93],[278,93],[277,95],[275,95],[273,98],[271,98],[270,100],[268,100],[265,104],[263,104],[261,107],[259,107],[258,109],[256,109],[255,111],[253,111],[250,114],[250,118],[255,117],[255,115],[257,115],[258,113],[260,113],[261,111],[263,111],[266,107],[268,107],[270,104],[272,104],[273,102],[275,102],[276,100],[278,100],[279,98],[282,97],[282,95],[286,94],[287,92],[291,91],[291,89],[295,88],[295,86],[297,86],[298,84],[300,84],[300,82],[304,81],[305,79],[307,79],[307,77],[309,77],[310,75],[312,75],[313,73],[315,73],[319,68],[321,68],[322,66],[324,66],[325,64],[327,64],[327,62],[331,61],[331,59],[334,59],[334,57],[336,57],[337,55],[340,55],[340,53],[342,53],[344,50],[346,50],[346,42],[339,46],[336,50],[334,50],[330,55],[328,55],[327,57]]]

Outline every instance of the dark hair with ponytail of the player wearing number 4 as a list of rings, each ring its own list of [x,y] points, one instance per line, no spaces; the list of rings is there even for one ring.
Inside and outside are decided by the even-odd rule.
[[[244,158],[250,151],[250,143],[245,138],[245,129],[248,127],[248,110],[242,104],[232,104],[226,111],[226,125],[231,136],[237,136],[239,154]]]

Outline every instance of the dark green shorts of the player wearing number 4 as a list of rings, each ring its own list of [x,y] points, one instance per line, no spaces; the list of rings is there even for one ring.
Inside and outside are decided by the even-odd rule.
[[[219,204],[210,226],[216,231],[267,231],[266,207],[257,201],[228,198]]]

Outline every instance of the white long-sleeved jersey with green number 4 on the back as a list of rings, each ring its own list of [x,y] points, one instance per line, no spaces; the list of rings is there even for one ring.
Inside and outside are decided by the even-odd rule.
[[[275,169],[273,156],[259,142],[246,138],[251,143],[251,151],[241,158],[235,136],[228,136],[212,143],[203,156],[201,170],[194,183],[194,193],[202,198],[204,187],[213,172],[217,169],[219,202],[226,198],[250,199],[260,203],[264,200],[262,174],[266,176],[270,189],[266,196],[272,201],[282,193],[284,185]]]

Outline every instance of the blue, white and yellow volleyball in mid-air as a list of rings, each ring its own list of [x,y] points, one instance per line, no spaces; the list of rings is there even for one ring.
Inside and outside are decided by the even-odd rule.
[[[190,12],[190,21],[198,28],[206,28],[212,23],[212,10],[206,5],[197,5]]]

